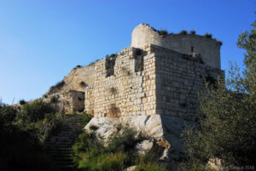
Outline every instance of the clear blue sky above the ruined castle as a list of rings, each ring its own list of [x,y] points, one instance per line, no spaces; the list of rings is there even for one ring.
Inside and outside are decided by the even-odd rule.
[[[74,66],[131,43],[140,23],[169,32],[212,33],[223,42],[222,69],[241,68],[239,34],[255,20],[254,0],[0,0],[0,98],[41,97]]]

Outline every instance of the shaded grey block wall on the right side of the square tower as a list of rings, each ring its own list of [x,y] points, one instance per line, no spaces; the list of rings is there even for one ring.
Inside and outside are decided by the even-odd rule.
[[[150,46],[156,60],[156,114],[195,120],[198,93],[205,82],[224,74],[207,66],[201,58]]]

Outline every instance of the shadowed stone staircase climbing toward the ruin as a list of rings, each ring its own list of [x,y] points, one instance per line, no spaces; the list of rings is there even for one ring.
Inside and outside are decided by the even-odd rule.
[[[61,170],[73,170],[72,145],[84,128],[84,115],[65,115],[61,132],[46,140],[46,149]]]

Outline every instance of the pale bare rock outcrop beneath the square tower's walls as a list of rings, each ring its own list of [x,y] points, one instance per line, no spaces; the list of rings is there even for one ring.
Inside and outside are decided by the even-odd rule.
[[[178,162],[184,157],[184,148],[180,135],[186,125],[193,124],[184,121],[179,117],[168,116],[132,116],[132,117],[94,117],[85,126],[85,130],[96,127],[96,134],[108,141],[111,134],[116,133],[121,126],[136,128],[138,134],[148,137],[148,140],[137,145],[140,153],[149,151],[153,147],[153,140],[165,148],[160,162],[168,165],[169,168],[177,168]]]

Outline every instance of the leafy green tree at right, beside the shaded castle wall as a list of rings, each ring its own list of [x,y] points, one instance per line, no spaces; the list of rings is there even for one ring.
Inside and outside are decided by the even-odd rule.
[[[256,163],[256,21],[252,26],[237,43],[246,50],[242,74],[231,65],[226,82],[219,77],[217,88],[200,94],[199,123],[183,133],[189,170],[202,170],[210,158],[226,170],[252,170]]]

